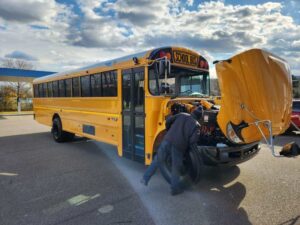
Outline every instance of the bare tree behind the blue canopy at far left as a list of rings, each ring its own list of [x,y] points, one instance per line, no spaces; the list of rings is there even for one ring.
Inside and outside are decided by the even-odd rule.
[[[34,65],[28,61],[21,59],[4,59],[1,63],[1,67],[32,70]],[[32,98],[32,86],[28,82],[9,82],[15,90],[15,96],[17,97],[18,110],[20,110],[20,98]]]

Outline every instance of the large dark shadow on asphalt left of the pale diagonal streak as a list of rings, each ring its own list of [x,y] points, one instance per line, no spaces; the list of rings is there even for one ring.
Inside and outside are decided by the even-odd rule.
[[[49,132],[0,137],[0,143],[1,225],[153,224],[95,143],[56,143]]]

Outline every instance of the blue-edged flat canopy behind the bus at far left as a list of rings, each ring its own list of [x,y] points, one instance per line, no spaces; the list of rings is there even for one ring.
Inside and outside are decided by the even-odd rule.
[[[53,73],[55,72],[0,68],[0,81],[32,83],[35,78],[47,76]]]

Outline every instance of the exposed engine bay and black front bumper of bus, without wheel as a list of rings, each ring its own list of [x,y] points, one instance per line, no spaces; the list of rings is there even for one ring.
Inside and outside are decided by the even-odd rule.
[[[204,163],[208,165],[238,164],[250,157],[251,154],[247,153],[257,153],[258,142],[236,144],[223,134],[217,121],[219,106],[212,103],[213,100],[206,99],[176,99],[170,101],[171,106],[169,106],[172,114],[192,113],[198,106],[203,107],[203,115],[198,121],[200,124],[198,146],[206,154],[203,157]]]

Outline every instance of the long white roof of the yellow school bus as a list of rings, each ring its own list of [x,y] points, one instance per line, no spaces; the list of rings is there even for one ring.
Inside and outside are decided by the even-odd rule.
[[[142,59],[142,58],[151,59],[160,50],[162,50],[162,49],[173,49],[173,48],[186,50],[186,51],[189,51],[189,52],[194,52],[190,49],[183,48],[183,47],[177,47],[177,46],[160,47],[160,48],[155,48],[155,49],[152,49],[152,50],[147,50],[147,51],[143,51],[143,52],[139,52],[139,53],[134,53],[134,54],[131,54],[131,55],[122,56],[122,57],[116,58],[116,59],[111,59],[111,60],[99,62],[99,63],[93,64],[93,65],[81,67],[81,68],[74,69],[74,70],[58,72],[58,73],[51,74],[51,75],[48,75],[48,76],[43,76],[43,77],[35,79],[33,81],[33,83],[39,83],[39,82],[47,81],[48,79],[52,80],[53,78],[65,77],[67,75],[71,75],[71,74],[74,74],[74,73],[85,72],[85,71],[88,71],[90,69],[95,69],[95,68],[100,68],[100,67],[111,67],[111,66],[114,66],[118,63],[132,60],[133,57],[136,57],[138,59]],[[194,53],[198,54],[197,52],[194,52]],[[81,74],[81,75],[83,75],[83,74]]]

